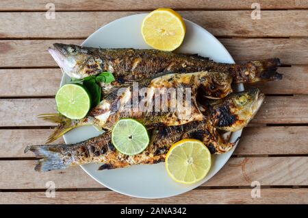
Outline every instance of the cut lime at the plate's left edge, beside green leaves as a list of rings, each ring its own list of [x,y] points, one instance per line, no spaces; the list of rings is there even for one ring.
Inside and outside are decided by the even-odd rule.
[[[80,84],[65,84],[55,95],[57,110],[69,119],[86,117],[91,107],[91,97]]]

